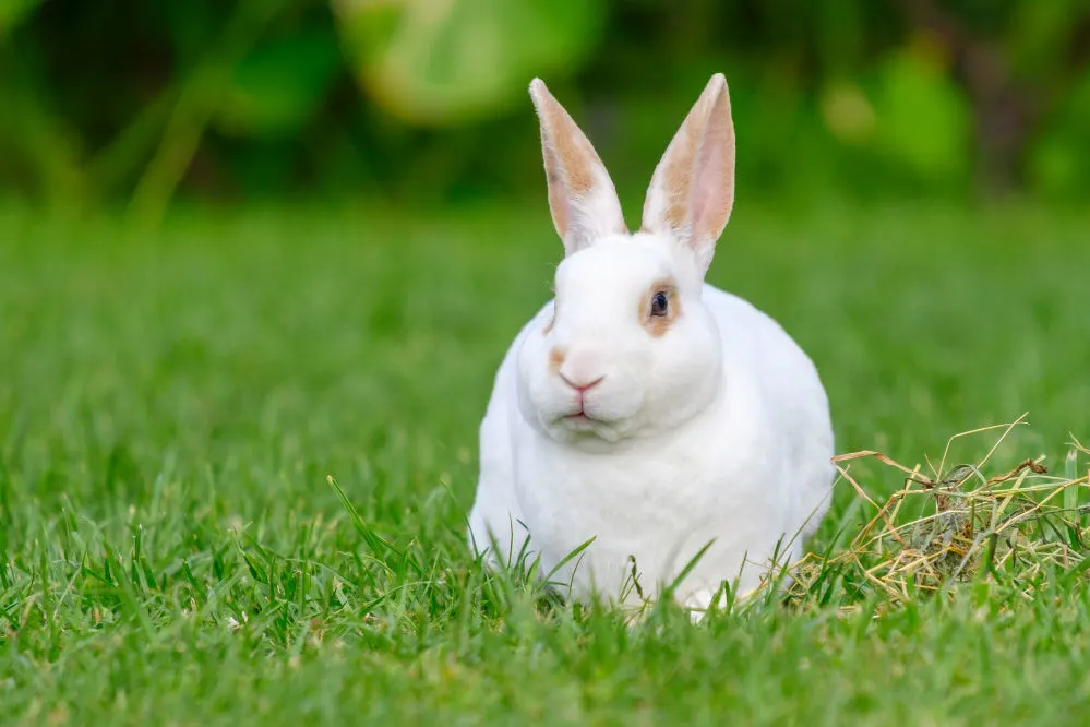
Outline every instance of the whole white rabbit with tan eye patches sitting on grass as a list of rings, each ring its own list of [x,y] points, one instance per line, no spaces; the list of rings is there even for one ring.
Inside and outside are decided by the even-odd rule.
[[[528,536],[548,573],[594,538],[552,580],[633,605],[710,541],[674,597],[704,610],[724,581],[752,592],[828,509],[834,444],[810,358],[704,282],[734,200],[727,82],[711,78],[671,141],[634,234],[587,138],[539,79],[530,96],[566,254],[495,377],[470,546],[511,562]]]

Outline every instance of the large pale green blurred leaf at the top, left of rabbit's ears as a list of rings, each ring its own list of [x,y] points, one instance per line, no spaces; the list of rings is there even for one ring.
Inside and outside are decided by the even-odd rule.
[[[376,103],[405,121],[486,118],[534,74],[587,56],[600,0],[403,0],[333,3],[346,57]]]

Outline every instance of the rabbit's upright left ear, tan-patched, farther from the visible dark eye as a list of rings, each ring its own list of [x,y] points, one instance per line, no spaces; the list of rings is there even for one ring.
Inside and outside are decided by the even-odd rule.
[[[541,154],[552,222],[566,253],[600,237],[627,233],[613,181],[590,141],[541,79],[530,82],[530,97],[541,121]]]

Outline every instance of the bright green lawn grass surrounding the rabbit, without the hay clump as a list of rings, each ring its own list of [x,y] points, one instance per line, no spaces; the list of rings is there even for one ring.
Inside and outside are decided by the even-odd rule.
[[[711,279],[816,360],[838,451],[925,463],[1029,412],[996,464],[1063,472],[1070,434],[1090,440],[1088,239],[1086,214],[1032,208],[740,206]],[[1069,724],[1090,705],[1090,596],[1058,573],[1032,598],[981,581],[897,607],[829,577],[630,630],[483,572],[463,536],[477,425],[548,294],[543,208],[251,211],[146,239],[9,211],[0,240],[0,722]],[[875,497],[901,484],[854,467]],[[838,485],[818,546],[873,514],[854,502]]]

